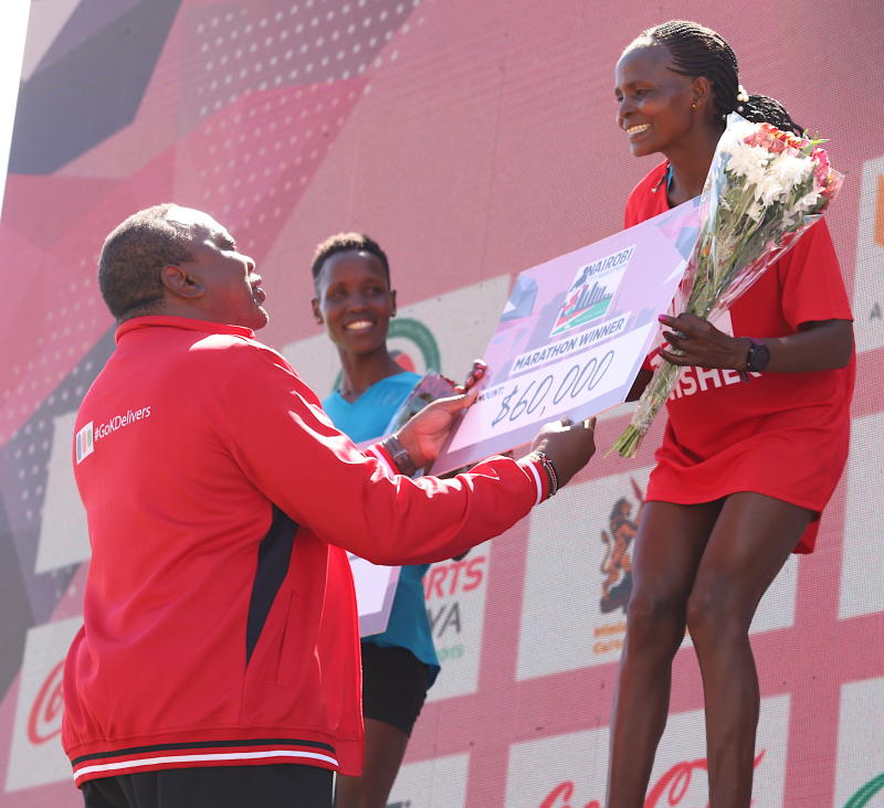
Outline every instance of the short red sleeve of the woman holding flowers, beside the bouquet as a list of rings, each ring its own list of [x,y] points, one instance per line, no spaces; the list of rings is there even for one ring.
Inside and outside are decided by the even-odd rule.
[[[777,262],[782,288],[782,315],[796,330],[812,320],[852,320],[841,266],[829,226],[811,225]]]

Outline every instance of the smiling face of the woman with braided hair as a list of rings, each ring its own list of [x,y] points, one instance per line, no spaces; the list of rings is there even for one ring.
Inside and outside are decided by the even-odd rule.
[[[666,152],[694,128],[695,79],[670,70],[669,50],[659,44],[631,47],[617,63],[617,125],[627,132],[633,157]]]

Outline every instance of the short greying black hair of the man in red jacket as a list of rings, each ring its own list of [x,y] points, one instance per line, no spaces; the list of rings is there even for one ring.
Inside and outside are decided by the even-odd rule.
[[[192,230],[166,215],[171,202],[138,211],[105,238],[98,288],[118,320],[152,315],[164,300],[160,269],[193,261]]]

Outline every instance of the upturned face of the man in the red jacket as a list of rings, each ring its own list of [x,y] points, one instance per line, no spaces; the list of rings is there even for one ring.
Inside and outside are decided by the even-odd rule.
[[[236,249],[233,236],[208,213],[191,208],[172,208],[166,216],[192,233],[193,261],[182,268],[199,279],[204,294],[198,299],[200,313],[213,322],[257,330],[270,319],[265,294],[255,263]]]

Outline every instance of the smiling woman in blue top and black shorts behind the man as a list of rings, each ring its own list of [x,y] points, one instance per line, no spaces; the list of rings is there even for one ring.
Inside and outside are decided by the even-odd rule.
[[[316,248],[313,278],[313,313],[337,347],[341,366],[339,386],[323,406],[354,442],[380,437],[420,380],[387,348],[396,316],[387,256],[361,233],[339,233]],[[477,364],[467,385],[481,375]],[[387,630],[362,639],[364,774],[338,777],[336,808],[387,805],[414,721],[439,673],[423,596],[428,568],[401,568]]]

